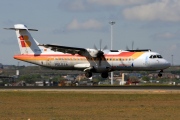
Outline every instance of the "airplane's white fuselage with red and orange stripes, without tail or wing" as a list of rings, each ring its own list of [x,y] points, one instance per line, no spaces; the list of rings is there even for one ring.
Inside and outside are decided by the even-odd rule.
[[[150,58],[151,55],[156,58]],[[94,72],[109,72],[116,70],[163,70],[170,63],[163,58],[158,58],[155,52],[108,52],[101,61],[97,58],[87,58],[80,55],[64,54],[61,52],[43,53],[39,55],[15,55],[14,58],[33,64],[59,69],[59,70],[84,70],[89,67]]]

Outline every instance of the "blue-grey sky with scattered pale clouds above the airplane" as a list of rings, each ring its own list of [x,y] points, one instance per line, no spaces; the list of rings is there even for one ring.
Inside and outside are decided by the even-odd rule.
[[[15,31],[3,28],[25,24],[41,44],[71,47],[151,49],[180,65],[180,0],[1,0],[0,63],[28,65],[19,54]]]

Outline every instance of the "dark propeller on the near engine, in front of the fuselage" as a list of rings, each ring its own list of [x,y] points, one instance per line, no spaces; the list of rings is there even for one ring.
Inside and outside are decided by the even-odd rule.
[[[101,49],[101,46],[102,46],[102,39],[100,39],[100,41],[99,41],[99,48],[100,48],[99,50],[97,49],[96,45],[94,45],[94,49],[98,51],[96,56],[99,59],[99,66],[101,66],[102,57],[104,56],[103,51],[107,49],[107,45],[104,46],[103,49]]]

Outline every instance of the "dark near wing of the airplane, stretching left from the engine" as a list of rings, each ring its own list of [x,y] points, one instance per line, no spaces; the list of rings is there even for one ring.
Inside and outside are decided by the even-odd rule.
[[[77,47],[68,47],[68,46],[59,46],[59,45],[52,45],[52,44],[40,44],[39,46],[44,46],[46,48],[50,48],[55,52],[63,52],[69,54],[79,54],[82,56],[86,56],[88,51],[85,48],[77,48]]]

